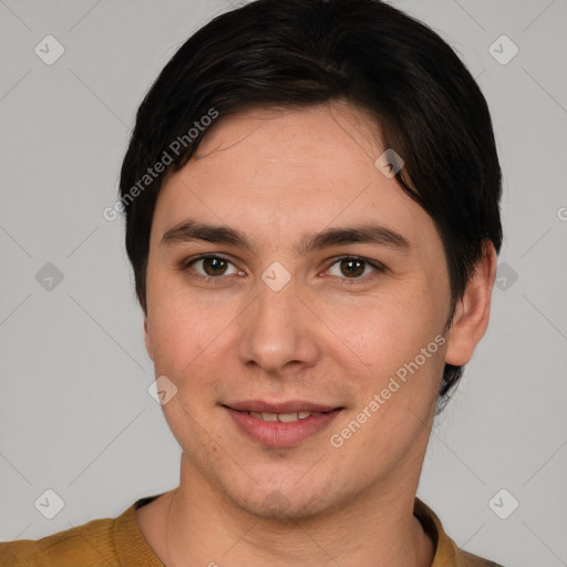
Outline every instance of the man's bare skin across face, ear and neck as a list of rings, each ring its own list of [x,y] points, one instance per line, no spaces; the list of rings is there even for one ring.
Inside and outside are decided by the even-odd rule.
[[[432,218],[374,165],[384,150],[375,121],[344,102],[247,111],[219,118],[165,179],[144,327],[156,377],[177,388],[163,411],[183,450],[181,483],[136,517],[168,567],[431,565],[414,496],[443,365],[467,363],[486,330],[496,255],[487,244],[443,332],[443,245]],[[254,251],[162,244],[187,218],[243,231]],[[306,234],[367,221],[401,234],[409,250],[359,243],[295,251]],[[181,268],[203,254],[227,259],[224,272],[203,261]],[[349,255],[386,269],[363,264],[352,276],[341,269]],[[291,277],[279,291],[261,279],[275,261]],[[206,275],[218,282],[198,279]],[[332,446],[330,436],[437,336],[446,342]],[[276,449],[244,435],[220,405],[250,399],[344,410],[324,431]]]

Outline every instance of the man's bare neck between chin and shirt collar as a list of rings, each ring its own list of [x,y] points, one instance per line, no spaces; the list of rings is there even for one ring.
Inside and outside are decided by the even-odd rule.
[[[183,455],[166,565],[430,567],[433,543],[413,516],[419,474],[396,478],[403,481],[360,493],[324,515],[276,520],[243,509]]]

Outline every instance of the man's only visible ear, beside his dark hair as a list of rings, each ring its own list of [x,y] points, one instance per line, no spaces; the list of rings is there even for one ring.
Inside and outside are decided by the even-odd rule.
[[[455,367],[466,364],[483,338],[491,315],[491,298],[496,277],[496,250],[491,240],[483,244],[483,256],[455,307],[447,333],[445,362]]]

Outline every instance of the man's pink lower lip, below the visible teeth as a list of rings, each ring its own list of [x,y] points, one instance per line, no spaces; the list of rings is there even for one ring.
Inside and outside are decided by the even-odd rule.
[[[320,415],[310,415],[291,422],[264,421],[248,413],[225,408],[246,435],[271,447],[292,447],[326,429],[341,410],[332,410]]]

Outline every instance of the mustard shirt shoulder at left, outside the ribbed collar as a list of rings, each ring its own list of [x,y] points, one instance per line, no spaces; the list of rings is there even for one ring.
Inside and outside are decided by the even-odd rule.
[[[126,511],[127,512],[127,511]],[[0,543],[2,567],[118,567],[113,526],[116,518],[93,519],[41,539]]]

